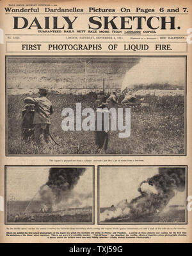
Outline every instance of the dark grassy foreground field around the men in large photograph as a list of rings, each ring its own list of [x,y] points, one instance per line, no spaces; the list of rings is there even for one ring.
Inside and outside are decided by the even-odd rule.
[[[7,153],[12,154],[41,154],[64,155],[77,154],[77,145],[95,142],[94,131],[63,131],[61,129],[61,111],[64,107],[76,109],[76,103],[81,102],[82,109],[93,107],[95,94],[87,95],[58,94],[52,91],[48,98],[51,100],[54,114],[51,116],[51,131],[61,146],[49,143],[35,145],[21,140],[20,125],[21,111],[24,98],[28,95],[8,95],[7,109]],[[38,96],[38,95],[32,95]],[[118,138],[119,131],[109,132],[109,144],[106,154],[154,154],[177,155],[185,154],[184,145],[184,96],[154,96],[145,95],[148,107],[142,109],[140,96],[136,103],[129,105],[118,104],[116,107],[131,107],[131,136]],[[79,154],[95,154],[95,145],[81,147]],[[104,154],[104,152],[99,152]]]

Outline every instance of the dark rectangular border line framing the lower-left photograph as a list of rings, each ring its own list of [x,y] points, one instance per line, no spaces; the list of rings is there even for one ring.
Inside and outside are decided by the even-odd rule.
[[[92,192],[92,196],[93,196],[93,205],[92,205],[92,222],[87,222],[87,223],[8,223],[7,222],[7,203],[6,203],[6,170],[8,167],[92,167],[92,175],[93,175],[93,192]],[[5,225],[93,225],[95,224],[95,165],[4,165],[4,224]]]

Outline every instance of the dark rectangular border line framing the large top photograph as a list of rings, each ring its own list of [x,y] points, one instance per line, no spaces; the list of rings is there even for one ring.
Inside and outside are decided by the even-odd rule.
[[[20,58],[20,57],[27,57],[27,58],[38,58],[38,57],[49,57],[49,58],[54,58],[54,57],[65,57],[65,58],[127,58],[127,57],[159,57],[159,58],[164,58],[164,57],[172,57],[172,58],[177,58],[177,57],[184,57],[186,59],[186,86],[185,86],[185,95],[184,95],[184,153],[183,154],[56,154],[56,155],[49,155],[49,154],[41,154],[41,155],[35,155],[35,154],[8,154],[8,99],[7,99],[7,86],[6,86],[6,70],[8,68],[7,66],[7,60],[8,58]],[[5,120],[6,120],[6,127],[5,127],[5,138],[6,138],[6,143],[5,143],[5,156],[35,156],[35,157],[42,157],[42,156],[77,156],[77,157],[82,157],[82,156],[187,156],[187,66],[188,66],[188,57],[187,55],[5,55]]]

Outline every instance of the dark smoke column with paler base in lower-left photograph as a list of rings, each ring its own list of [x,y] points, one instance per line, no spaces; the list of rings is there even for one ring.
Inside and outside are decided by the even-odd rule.
[[[62,201],[70,201],[71,203],[63,204],[71,206],[73,203],[78,205],[75,201],[79,200],[76,195],[72,193],[81,175],[83,175],[85,168],[54,168],[49,170],[49,178],[47,183],[40,188],[39,194],[48,210],[58,208]],[[79,196],[78,196],[79,197]],[[83,198],[83,197],[81,197]],[[62,203],[61,203],[62,205]]]

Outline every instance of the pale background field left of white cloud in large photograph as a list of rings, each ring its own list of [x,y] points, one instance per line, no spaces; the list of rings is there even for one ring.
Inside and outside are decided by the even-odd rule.
[[[139,58],[82,58],[82,57],[8,57],[6,84],[9,88],[47,89],[84,87],[84,62],[87,61],[87,87],[121,87],[126,71]]]

